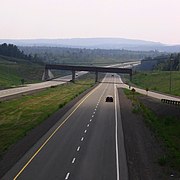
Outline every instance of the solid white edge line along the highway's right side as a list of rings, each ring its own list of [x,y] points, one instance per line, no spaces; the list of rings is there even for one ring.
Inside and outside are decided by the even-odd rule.
[[[118,127],[117,127],[117,102],[116,102],[116,85],[114,84],[114,106],[115,106],[115,139],[116,139],[116,175],[119,180],[119,152],[118,152]]]

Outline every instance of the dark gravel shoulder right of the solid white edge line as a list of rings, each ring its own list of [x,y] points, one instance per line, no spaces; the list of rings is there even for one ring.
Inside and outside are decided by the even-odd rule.
[[[141,115],[132,112],[132,103],[122,89],[118,89],[124,142],[130,180],[166,180],[171,179],[165,169],[158,164],[158,158],[163,153],[161,146],[153,133],[146,126]],[[156,110],[159,104],[152,99],[143,100],[146,105]],[[160,107],[162,108],[162,107]],[[163,112],[162,112],[163,113]]]

